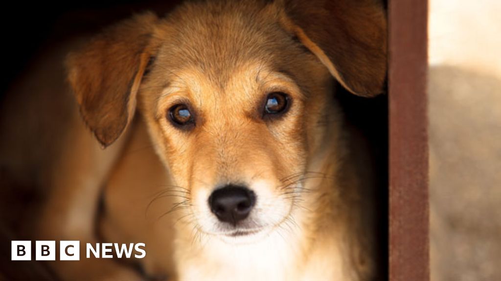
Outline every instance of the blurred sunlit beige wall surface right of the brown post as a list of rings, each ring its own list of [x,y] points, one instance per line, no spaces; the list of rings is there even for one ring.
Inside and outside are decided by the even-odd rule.
[[[433,281],[501,280],[501,2],[430,0]]]

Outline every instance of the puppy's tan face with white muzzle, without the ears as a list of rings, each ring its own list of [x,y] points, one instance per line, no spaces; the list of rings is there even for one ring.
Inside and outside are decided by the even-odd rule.
[[[163,22],[139,97],[201,231],[233,236],[286,219],[309,151],[338,113],[326,102],[327,68],[274,10],[238,8]]]

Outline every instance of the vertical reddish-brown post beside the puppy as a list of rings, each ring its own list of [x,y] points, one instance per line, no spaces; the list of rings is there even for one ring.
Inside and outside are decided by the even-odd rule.
[[[427,0],[389,0],[389,279],[429,280]]]

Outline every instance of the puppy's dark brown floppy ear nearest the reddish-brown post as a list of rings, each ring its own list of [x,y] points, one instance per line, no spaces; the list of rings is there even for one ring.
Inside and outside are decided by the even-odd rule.
[[[349,91],[383,91],[387,24],[381,0],[283,0],[283,25]]]

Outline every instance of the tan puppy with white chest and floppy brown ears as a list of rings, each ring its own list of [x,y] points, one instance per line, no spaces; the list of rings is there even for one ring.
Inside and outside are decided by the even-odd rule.
[[[109,259],[56,262],[62,279],[375,277],[369,160],[332,90],[382,92],[382,3],[188,2],[104,30],[67,69],[83,122],[48,113],[58,145],[44,139],[38,158],[17,158],[31,167],[10,165],[43,167],[37,236],[142,241],[147,254],[142,274]],[[55,90],[33,100],[49,94],[71,108]]]

